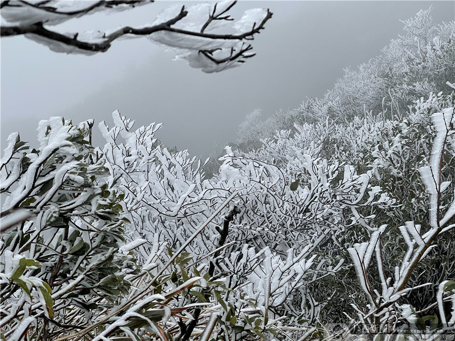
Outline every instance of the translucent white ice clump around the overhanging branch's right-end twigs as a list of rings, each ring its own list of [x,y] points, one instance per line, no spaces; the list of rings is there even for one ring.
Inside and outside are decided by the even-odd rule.
[[[195,4],[187,8],[188,15],[179,20],[173,27],[174,31],[157,31],[149,39],[163,45],[166,50],[172,51],[176,59],[186,59],[194,68],[204,72],[219,72],[224,69],[239,66],[249,57],[253,57],[251,45],[243,39],[217,38],[215,35],[204,36],[203,33],[214,29],[223,28],[229,21],[229,10],[234,2]],[[180,7],[172,6],[163,11],[152,25],[159,25],[178,15]],[[209,19],[207,19],[209,13]],[[269,18],[270,13],[265,9],[247,10],[243,17],[234,23],[233,28],[237,35],[251,38],[253,32],[262,27]],[[201,32],[201,34],[188,35],[185,32]],[[248,33],[252,32],[252,33]],[[239,58],[233,58],[238,55]]]

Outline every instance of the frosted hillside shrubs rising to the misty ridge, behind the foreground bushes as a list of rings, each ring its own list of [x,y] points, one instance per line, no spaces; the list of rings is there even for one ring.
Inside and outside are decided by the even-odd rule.
[[[406,221],[416,221],[423,230],[429,228],[429,194],[419,169],[429,162],[436,136],[431,115],[453,107],[453,94],[448,95],[451,89],[446,82],[453,83],[455,79],[455,22],[435,25],[427,10],[403,23],[405,36],[392,40],[380,56],[357,70],[346,70],[345,77],[338,80],[322,99],[303,103],[288,115],[293,124],[288,121],[281,125],[271,118],[269,120],[273,122],[269,125],[277,129],[269,133],[260,129],[263,123],[259,121],[252,131],[260,130],[256,139],[263,146],[257,148],[251,142],[240,146],[244,152],[236,152],[281,169],[286,169],[300,154],[307,153],[315,159],[325,158],[332,164],[353,165],[360,174],[371,174],[371,186],[381,188],[390,198],[388,205],[365,205],[358,209],[358,214],[370,219],[365,224],[354,222],[342,229],[342,233],[334,236],[333,245],[338,250],[338,257],[349,258],[347,248],[369,239],[370,230],[388,224],[383,250],[390,257],[383,259],[385,268],[400,266],[400,256],[406,253],[407,246],[399,226]],[[422,96],[424,100],[421,100]],[[450,148],[443,153],[441,167],[441,181],[445,186],[452,183],[455,173]],[[304,172],[295,174],[296,180],[292,183],[306,180],[304,175]],[[441,207],[447,207],[453,193],[444,191],[443,194]],[[347,214],[346,219],[349,216]],[[429,307],[434,304],[441,274],[455,275],[450,260],[452,234],[453,231],[447,231],[448,238],[435,241],[438,252],[432,249],[428,257],[416,265],[416,273],[422,273],[420,277],[409,279],[410,286],[423,282],[433,285],[410,291],[401,298],[402,304],[410,304],[417,311]],[[370,281],[380,285],[379,273],[374,269],[371,271]],[[334,276],[311,283],[311,293],[317,295],[316,302],[330,298],[331,304],[321,312],[323,320],[346,320],[345,313],[351,317],[356,314],[350,308],[352,303],[368,304],[368,295],[358,286],[355,277],[354,269],[346,266]],[[437,313],[435,308],[428,312]]]

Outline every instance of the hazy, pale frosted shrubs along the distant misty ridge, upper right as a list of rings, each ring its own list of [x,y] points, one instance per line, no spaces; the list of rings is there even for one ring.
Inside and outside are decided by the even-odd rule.
[[[293,111],[272,116],[266,125],[260,120],[251,121],[248,115],[240,126],[239,141],[244,140],[245,125],[250,127],[249,135],[256,138],[250,136],[240,150],[260,149],[257,141],[272,138],[276,130],[297,132],[295,123],[302,126],[329,117],[349,124],[355,118],[371,115],[393,120],[406,116],[409,107],[422,96],[449,93],[446,82],[455,80],[455,21],[436,25],[430,8],[403,24],[405,35],[392,39],[382,54],[368,63],[346,69],[344,77],[323,98],[309,99]]]

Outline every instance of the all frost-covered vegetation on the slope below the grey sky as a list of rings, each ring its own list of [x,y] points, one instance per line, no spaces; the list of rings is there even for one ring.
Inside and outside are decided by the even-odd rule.
[[[428,10],[403,23],[405,35],[324,98],[266,122],[249,115],[213,176],[208,160],[161,145],[160,124],[134,127],[119,112],[98,125],[99,147],[93,121],[41,121],[37,150],[12,133],[1,160],[2,338],[452,330],[455,22],[436,25]],[[196,60],[216,41],[171,33],[151,39],[219,71]]]

